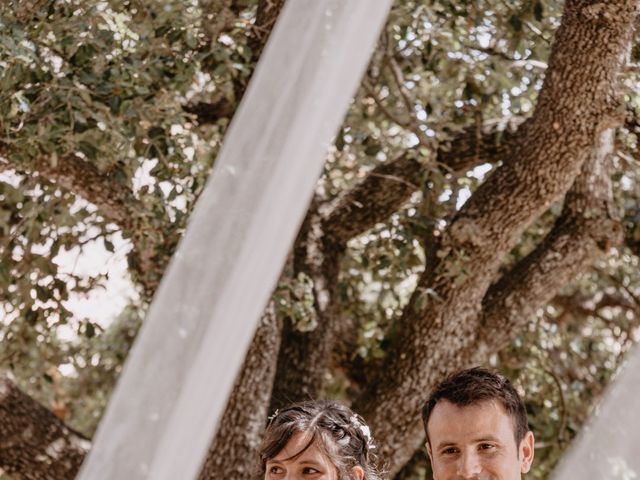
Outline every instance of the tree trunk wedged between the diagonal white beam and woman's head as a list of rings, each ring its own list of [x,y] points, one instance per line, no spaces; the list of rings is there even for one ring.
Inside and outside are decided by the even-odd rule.
[[[201,480],[255,478],[256,451],[266,424],[281,328],[274,305],[270,303],[209,449]],[[238,459],[246,461],[238,462]]]

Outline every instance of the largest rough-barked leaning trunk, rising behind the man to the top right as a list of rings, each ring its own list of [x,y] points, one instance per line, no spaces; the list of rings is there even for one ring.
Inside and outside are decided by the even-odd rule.
[[[636,10],[630,0],[567,1],[536,111],[519,129],[512,161],[445,232],[441,260],[419,282],[382,373],[356,402],[392,474],[420,445],[420,404],[429,389],[469,362],[464,353],[477,341],[482,300],[503,256],[569,189],[597,135],[615,125],[616,76]]]

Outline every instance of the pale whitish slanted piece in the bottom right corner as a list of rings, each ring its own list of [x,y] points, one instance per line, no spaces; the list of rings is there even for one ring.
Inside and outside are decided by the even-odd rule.
[[[640,479],[640,349],[629,359],[591,423],[554,472],[554,480]]]

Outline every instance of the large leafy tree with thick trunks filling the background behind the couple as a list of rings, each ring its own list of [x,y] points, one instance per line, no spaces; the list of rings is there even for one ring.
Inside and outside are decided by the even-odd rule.
[[[77,471],[283,3],[0,7],[8,474]],[[474,364],[527,392],[546,477],[638,335],[639,3],[397,2],[203,478],[253,478],[267,412],[318,396],[425,478],[421,403]],[[66,303],[102,277],[57,259],[120,237],[139,300],[103,329]]]

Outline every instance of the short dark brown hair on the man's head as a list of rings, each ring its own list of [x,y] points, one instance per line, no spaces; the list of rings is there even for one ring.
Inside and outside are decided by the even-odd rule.
[[[427,423],[431,412],[440,400],[447,400],[458,407],[466,407],[486,401],[497,401],[511,415],[516,445],[529,431],[527,410],[511,382],[486,368],[470,368],[447,377],[431,392],[422,408],[422,422],[429,442]]]

